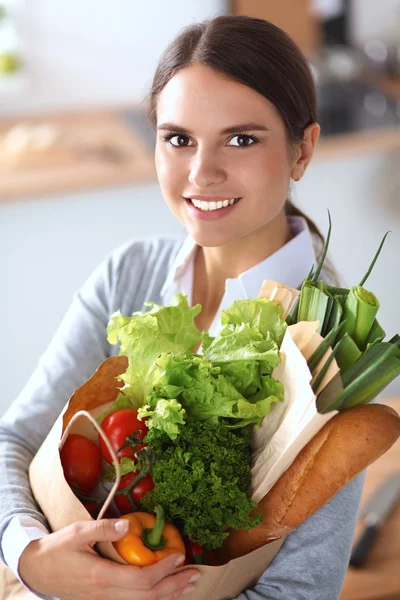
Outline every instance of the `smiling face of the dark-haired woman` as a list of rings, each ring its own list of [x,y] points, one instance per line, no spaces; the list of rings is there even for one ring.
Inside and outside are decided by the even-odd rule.
[[[155,160],[169,208],[201,246],[268,226],[294,164],[274,105],[202,65],[179,71],[159,95]]]

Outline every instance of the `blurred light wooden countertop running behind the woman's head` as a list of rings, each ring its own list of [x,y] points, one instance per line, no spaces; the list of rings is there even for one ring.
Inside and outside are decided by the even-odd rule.
[[[313,160],[400,149],[400,79],[374,85],[397,102],[398,124],[321,136]],[[149,181],[154,134],[139,106],[0,119],[0,201]]]

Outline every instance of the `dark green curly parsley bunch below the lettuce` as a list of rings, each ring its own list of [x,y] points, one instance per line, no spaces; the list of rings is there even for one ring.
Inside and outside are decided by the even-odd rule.
[[[155,461],[155,488],[142,499],[153,511],[165,508],[168,521],[204,548],[218,548],[227,528],[250,529],[262,517],[250,517],[251,428],[229,430],[223,424],[188,419],[176,439],[150,429],[146,436]]]

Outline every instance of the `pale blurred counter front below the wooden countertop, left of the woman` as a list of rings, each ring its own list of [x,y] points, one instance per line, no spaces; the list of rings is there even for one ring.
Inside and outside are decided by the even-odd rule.
[[[131,237],[165,233],[183,230],[157,185],[0,204],[0,415],[105,255]]]

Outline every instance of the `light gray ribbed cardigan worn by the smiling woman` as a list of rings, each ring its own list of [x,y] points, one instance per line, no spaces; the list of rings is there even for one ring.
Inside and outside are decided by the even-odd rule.
[[[160,303],[181,243],[172,237],[130,242],[112,252],[74,295],[36,370],[0,421],[0,540],[16,515],[30,515],[48,527],[32,498],[29,463],[72,392],[107,356],[118,353],[106,340],[110,315],[118,309],[125,315],[142,310],[146,300]],[[238,599],[337,599],[364,477],[365,472],[290,533],[255,587]],[[0,558],[4,562],[1,543]]]

